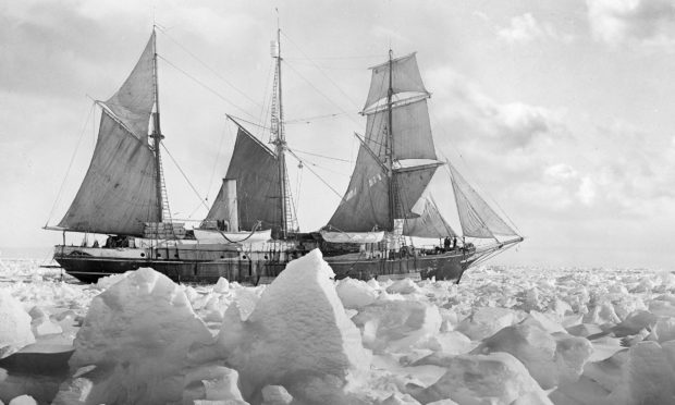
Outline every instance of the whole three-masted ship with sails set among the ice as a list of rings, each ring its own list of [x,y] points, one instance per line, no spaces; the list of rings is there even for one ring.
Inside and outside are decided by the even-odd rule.
[[[523,241],[459,172],[438,160],[429,122],[429,91],[416,54],[371,68],[361,113],[365,136],[348,187],[328,221],[300,232],[285,155],[281,41],[275,58],[271,145],[240,120],[230,165],[206,219],[193,230],[173,221],[160,149],[156,32],[122,87],[97,101],[101,121],[89,169],[57,226],[54,260],[84,282],[140,267],[175,281],[219,278],[257,284],[319,248],[336,278],[421,277],[459,281],[470,266]],[[444,219],[428,185],[447,169],[462,232]],[[450,185],[449,185],[450,187]],[[103,246],[66,245],[65,232],[108,235]],[[416,246],[418,238],[444,243]],[[86,240],[85,240],[86,241]],[[452,243],[451,243],[452,241]]]

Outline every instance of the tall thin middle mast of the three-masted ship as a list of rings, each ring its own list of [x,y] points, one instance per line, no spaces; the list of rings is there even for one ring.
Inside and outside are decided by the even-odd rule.
[[[278,23],[279,24],[279,23]],[[289,234],[289,207],[286,206],[286,199],[289,198],[286,193],[286,139],[284,134],[284,121],[283,121],[283,103],[282,103],[282,88],[281,88],[281,28],[277,28],[277,49],[272,54],[277,59],[277,86],[274,88],[277,93],[278,115],[274,120],[272,112],[272,132],[274,139],[272,144],[275,146],[277,159],[279,162],[279,196],[281,198],[280,216],[281,216],[281,238],[285,240]],[[277,121],[274,123],[274,121]],[[275,124],[275,125],[274,125]]]

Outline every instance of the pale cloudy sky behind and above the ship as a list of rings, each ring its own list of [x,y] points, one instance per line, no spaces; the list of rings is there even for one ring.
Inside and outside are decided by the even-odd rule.
[[[41,228],[84,177],[93,100],[116,91],[154,22],[173,218],[200,219],[216,197],[235,136],[225,114],[269,122],[279,22],[303,231],[324,225],[346,189],[368,68],[416,51],[439,156],[526,237],[493,262],[675,266],[666,0],[0,0],[0,249],[60,243]]]

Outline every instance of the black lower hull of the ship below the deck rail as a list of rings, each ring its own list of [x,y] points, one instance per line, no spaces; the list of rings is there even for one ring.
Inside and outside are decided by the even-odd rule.
[[[57,253],[54,259],[66,273],[91,283],[102,277],[149,267],[176,282],[216,283],[219,278],[241,283],[269,282],[286,267],[287,261],[271,260],[169,260],[105,258]],[[346,277],[369,280],[379,277],[420,277],[459,281],[472,263],[471,251],[453,250],[426,256],[405,256],[386,259],[324,257],[336,279]]]

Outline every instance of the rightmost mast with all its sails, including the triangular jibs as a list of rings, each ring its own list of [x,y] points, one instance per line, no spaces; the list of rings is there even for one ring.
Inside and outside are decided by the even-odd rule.
[[[367,119],[366,133],[364,138],[359,136],[361,145],[347,192],[328,225],[342,232],[459,236],[426,192],[435,170],[445,162],[437,158],[427,106],[431,95],[422,83],[415,53],[394,59],[390,50],[389,59],[370,70],[370,89],[361,111]],[[462,234],[493,240],[496,249],[521,241],[447,165]]]

